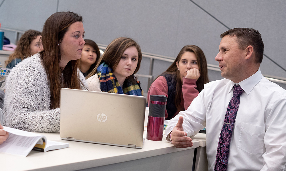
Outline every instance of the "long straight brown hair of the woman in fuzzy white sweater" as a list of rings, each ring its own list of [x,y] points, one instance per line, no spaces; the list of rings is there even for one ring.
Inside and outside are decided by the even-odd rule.
[[[42,43],[44,50],[40,52],[51,91],[50,108],[60,107],[61,88],[80,89],[78,68],[80,60],[71,60],[62,71],[59,67],[61,54],[59,44],[70,25],[80,21],[82,16],[73,12],[57,12],[52,14],[43,26]],[[82,84],[83,85],[83,84]]]

